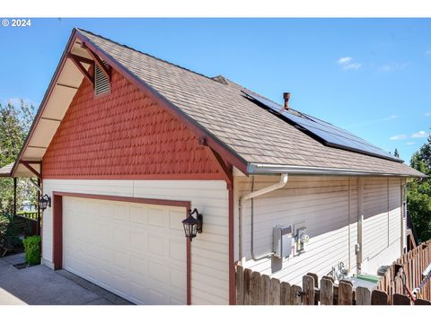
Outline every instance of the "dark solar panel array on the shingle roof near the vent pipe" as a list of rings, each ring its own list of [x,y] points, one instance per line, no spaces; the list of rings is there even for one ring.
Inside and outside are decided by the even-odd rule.
[[[328,122],[325,122],[319,118],[302,114],[297,112],[291,112],[271,100],[262,98],[261,96],[249,92],[242,91],[247,98],[257,103],[259,106],[270,109],[275,112],[280,118],[286,119],[287,122],[298,127],[307,135],[311,135],[322,144],[345,149],[356,153],[365,153],[372,156],[381,157],[391,161],[402,162],[400,159],[392,156],[390,153],[386,153],[383,149],[374,146],[366,142],[364,139],[359,138],[357,135],[353,135],[347,130],[335,127]]]

